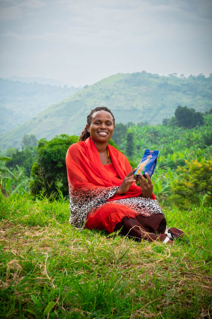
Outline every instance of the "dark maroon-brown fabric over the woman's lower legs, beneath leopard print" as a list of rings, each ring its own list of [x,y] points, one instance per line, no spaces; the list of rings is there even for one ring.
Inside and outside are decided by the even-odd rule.
[[[121,229],[121,230],[120,230]],[[117,223],[114,231],[120,230],[120,234],[135,237],[137,240],[164,241],[167,237],[166,219],[162,214],[153,214],[150,217],[136,215],[135,218],[125,216]]]

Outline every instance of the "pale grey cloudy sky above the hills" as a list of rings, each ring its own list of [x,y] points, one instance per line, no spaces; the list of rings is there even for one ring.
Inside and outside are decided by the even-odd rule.
[[[0,0],[0,77],[212,73],[212,0]]]

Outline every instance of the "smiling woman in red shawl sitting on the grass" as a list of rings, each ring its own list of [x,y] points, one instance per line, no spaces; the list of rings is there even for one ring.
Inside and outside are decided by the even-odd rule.
[[[148,241],[172,243],[182,233],[166,231],[166,219],[146,173],[137,179],[127,158],[108,141],[115,119],[106,107],[87,116],[79,142],[69,147],[66,166],[72,226],[105,229]],[[139,182],[140,186],[136,184]],[[166,233],[165,233],[166,232]]]

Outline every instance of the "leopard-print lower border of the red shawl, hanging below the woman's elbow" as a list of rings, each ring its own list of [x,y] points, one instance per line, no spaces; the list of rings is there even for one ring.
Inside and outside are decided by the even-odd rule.
[[[85,225],[87,215],[95,207],[104,204],[112,197],[118,186],[97,187],[95,189],[76,189],[69,183],[70,212],[72,226],[81,228]]]

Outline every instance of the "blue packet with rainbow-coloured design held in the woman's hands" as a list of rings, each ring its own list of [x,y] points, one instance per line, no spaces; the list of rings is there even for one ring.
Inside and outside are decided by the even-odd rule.
[[[145,173],[147,172],[149,177],[151,177],[154,172],[155,165],[157,163],[158,153],[159,151],[150,151],[146,149],[133,175],[139,177],[139,173],[141,173],[146,178]]]

